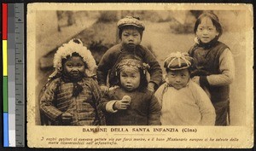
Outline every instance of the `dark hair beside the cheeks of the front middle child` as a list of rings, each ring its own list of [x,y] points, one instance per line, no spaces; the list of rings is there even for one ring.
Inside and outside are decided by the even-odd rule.
[[[146,73],[144,73],[143,69],[139,68],[139,73],[141,76],[140,84],[138,86],[138,90],[145,90],[148,87],[148,80],[146,78]],[[120,71],[117,71],[117,79],[118,79],[118,85],[121,86],[121,81],[120,81]]]

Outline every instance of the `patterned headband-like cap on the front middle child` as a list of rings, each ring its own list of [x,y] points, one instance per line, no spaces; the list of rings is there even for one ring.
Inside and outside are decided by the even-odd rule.
[[[137,67],[138,69],[142,69],[143,73],[146,73],[147,69],[149,68],[149,65],[136,59],[124,59],[119,62],[119,64],[116,67],[116,71],[120,71],[124,67]]]

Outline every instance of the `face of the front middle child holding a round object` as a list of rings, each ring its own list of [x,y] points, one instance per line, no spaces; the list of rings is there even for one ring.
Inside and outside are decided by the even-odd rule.
[[[125,90],[136,90],[141,81],[139,70],[134,67],[125,67],[120,71],[120,83]]]

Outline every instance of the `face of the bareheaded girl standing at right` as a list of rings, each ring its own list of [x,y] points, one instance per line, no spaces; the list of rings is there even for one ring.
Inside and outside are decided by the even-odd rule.
[[[203,44],[207,44],[211,42],[213,38],[218,36],[218,31],[213,25],[212,20],[209,17],[204,17],[202,18],[201,23],[197,26],[196,35]]]

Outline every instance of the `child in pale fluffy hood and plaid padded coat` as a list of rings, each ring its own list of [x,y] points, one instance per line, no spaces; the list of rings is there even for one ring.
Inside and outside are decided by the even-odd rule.
[[[54,67],[39,97],[40,111],[50,125],[101,125],[104,120],[97,109],[101,92],[91,78],[96,61],[90,50],[73,39],[57,50]]]

